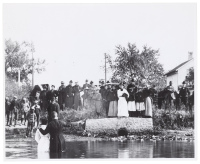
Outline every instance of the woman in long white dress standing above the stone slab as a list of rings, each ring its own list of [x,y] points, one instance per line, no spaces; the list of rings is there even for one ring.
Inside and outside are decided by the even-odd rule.
[[[119,98],[118,100],[118,117],[128,117],[128,107],[127,107],[127,101],[126,98],[129,97],[129,93],[124,88],[123,83],[119,84],[119,90],[117,91],[117,96]]]

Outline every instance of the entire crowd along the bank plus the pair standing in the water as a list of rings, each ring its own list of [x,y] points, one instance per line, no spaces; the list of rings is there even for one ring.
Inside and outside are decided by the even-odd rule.
[[[155,86],[150,87],[144,84],[140,87],[132,79],[130,83],[110,83],[99,81],[99,85],[94,85],[88,80],[81,87],[78,82],[69,81],[65,86],[61,82],[58,90],[55,86],[43,85],[43,90],[35,86],[28,98],[22,100],[16,96],[10,101],[6,97],[6,122],[7,126],[26,125],[26,136],[33,137],[33,129],[38,128],[35,140],[38,142],[38,152],[62,152],[65,149],[65,142],[62,135],[62,127],[67,123],[58,120],[60,110],[81,110],[88,103],[92,103],[97,116],[106,113],[106,117],[152,117],[152,104],[157,91]],[[165,88],[174,99],[174,87],[172,82]],[[183,82],[179,89],[179,95],[183,104],[186,104],[186,97],[189,90]],[[194,92],[193,92],[194,96]],[[177,97],[177,96],[176,96]],[[158,102],[159,105],[159,102]],[[41,112],[47,113],[45,118],[41,118]],[[40,125],[39,125],[40,124]],[[50,145],[50,147],[49,147]],[[39,153],[41,154],[41,153]],[[47,154],[46,154],[47,155]]]

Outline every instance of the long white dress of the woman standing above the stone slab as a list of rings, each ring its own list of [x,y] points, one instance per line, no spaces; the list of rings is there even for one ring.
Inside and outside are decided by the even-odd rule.
[[[123,89],[123,91],[121,91],[121,89],[119,89],[117,91],[117,96],[119,98],[118,100],[118,114],[117,116],[125,116],[128,117],[128,107],[127,107],[127,101],[125,99],[125,97],[121,97],[124,93],[126,93],[129,96],[129,93],[127,92],[126,89]]]

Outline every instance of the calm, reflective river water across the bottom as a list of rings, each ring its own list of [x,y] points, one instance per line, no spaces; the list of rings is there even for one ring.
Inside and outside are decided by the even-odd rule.
[[[188,141],[73,141],[59,158],[194,158]],[[35,141],[6,141],[6,159],[37,159]],[[48,158],[47,156],[44,156]]]

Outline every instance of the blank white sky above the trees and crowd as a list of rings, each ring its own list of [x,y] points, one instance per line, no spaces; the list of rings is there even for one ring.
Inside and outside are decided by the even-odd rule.
[[[134,43],[159,49],[165,72],[197,53],[196,5],[4,4],[3,38],[33,42],[46,71],[35,84],[104,79],[104,53]],[[108,73],[109,79],[111,73]]]

